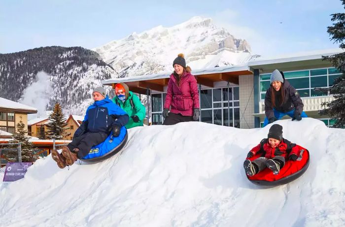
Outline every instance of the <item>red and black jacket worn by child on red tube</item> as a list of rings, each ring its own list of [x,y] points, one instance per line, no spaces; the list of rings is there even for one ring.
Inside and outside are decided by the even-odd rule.
[[[267,141],[266,141],[267,140]],[[263,143],[262,150],[261,150],[261,144]],[[250,151],[256,155],[258,152],[263,152],[265,154],[266,159],[272,159],[275,156],[282,156],[285,159],[288,159],[292,154],[299,155],[300,146],[291,143],[287,139],[282,139],[281,142],[278,144],[277,147],[272,148],[271,145],[268,143],[268,139],[264,139],[257,145],[256,147],[253,147]],[[288,150],[291,149],[290,153],[288,154]],[[260,151],[261,150],[261,151]],[[288,155],[288,157],[287,157]],[[264,155],[263,155],[264,156]]]

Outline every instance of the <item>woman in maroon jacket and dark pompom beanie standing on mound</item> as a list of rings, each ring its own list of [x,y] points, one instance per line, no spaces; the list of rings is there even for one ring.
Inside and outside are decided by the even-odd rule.
[[[163,117],[165,120],[163,125],[197,121],[200,116],[197,80],[190,73],[190,67],[186,66],[183,54],[179,54],[175,58],[173,68],[164,102]]]

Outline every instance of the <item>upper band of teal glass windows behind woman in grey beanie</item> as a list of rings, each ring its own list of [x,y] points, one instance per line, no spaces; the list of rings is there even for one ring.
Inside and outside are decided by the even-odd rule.
[[[301,97],[327,96],[325,93],[315,92],[314,88],[327,88],[333,85],[334,79],[342,73],[336,68],[318,68],[303,71],[284,72],[285,79],[300,93]],[[260,75],[260,97],[265,99],[266,91],[270,87],[271,74]]]

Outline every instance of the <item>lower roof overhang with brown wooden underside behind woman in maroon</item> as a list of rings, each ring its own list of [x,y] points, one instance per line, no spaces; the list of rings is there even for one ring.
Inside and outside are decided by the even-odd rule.
[[[164,92],[164,87],[168,85],[169,78],[172,72],[165,72],[161,74],[133,76],[127,78],[114,78],[102,81],[104,85],[110,85],[114,88],[117,83],[126,83],[132,92],[139,94],[147,94],[147,90],[154,90]],[[193,70],[192,74],[197,79],[198,84],[213,87],[214,82],[228,81],[234,84],[239,84],[239,75],[251,75],[253,72],[247,64],[213,67],[206,69]]]

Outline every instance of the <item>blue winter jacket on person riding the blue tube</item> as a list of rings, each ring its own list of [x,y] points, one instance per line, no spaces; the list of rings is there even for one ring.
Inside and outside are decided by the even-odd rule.
[[[106,96],[87,108],[84,121],[75,131],[74,136],[77,137],[87,131],[108,134],[113,125],[122,127],[128,123],[128,120],[127,113]]]

